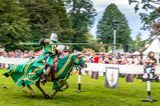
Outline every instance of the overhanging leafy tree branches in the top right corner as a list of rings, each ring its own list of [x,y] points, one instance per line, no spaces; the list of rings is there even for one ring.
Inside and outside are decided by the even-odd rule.
[[[129,4],[135,4],[135,12],[140,11],[142,23],[144,23],[142,29],[149,30],[152,35],[160,34],[160,0],[129,0]],[[145,10],[147,12],[141,12]]]

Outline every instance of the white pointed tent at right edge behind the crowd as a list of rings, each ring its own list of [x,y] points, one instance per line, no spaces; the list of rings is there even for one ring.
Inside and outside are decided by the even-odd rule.
[[[148,54],[150,51],[160,54],[160,41],[158,38],[155,38],[150,46],[143,52],[143,54]]]

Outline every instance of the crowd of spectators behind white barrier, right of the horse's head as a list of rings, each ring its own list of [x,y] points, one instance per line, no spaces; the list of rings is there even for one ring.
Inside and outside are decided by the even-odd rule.
[[[86,48],[85,48],[86,49]],[[85,61],[88,63],[103,63],[103,64],[135,64],[143,65],[144,59],[142,54],[131,54],[131,53],[105,53],[105,52],[93,52],[89,49],[85,52]],[[86,50],[85,50],[86,51]]]

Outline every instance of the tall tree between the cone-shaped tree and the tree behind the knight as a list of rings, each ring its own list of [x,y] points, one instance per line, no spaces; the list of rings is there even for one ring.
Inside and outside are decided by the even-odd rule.
[[[94,22],[96,10],[91,0],[66,0],[69,9],[69,18],[74,31],[72,42],[87,43],[89,27]],[[74,46],[81,50],[82,46]]]

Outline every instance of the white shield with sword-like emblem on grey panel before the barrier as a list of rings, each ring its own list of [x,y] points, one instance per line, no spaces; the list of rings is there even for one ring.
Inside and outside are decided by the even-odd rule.
[[[118,88],[119,68],[106,67],[105,86],[107,88]]]

